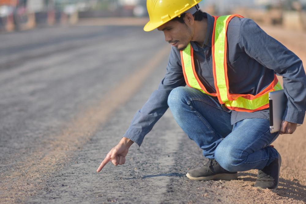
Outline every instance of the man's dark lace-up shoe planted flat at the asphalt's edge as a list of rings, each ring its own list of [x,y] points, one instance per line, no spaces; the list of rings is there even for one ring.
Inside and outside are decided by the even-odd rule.
[[[192,180],[235,180],[238,172],[230,172],[223,169],[215,159],[209,159],[200,169],[187,172],[186,176]]]

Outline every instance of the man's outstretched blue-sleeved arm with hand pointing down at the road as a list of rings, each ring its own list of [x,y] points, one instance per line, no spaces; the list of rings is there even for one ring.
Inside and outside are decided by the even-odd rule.
[[[144,136],[151,131],[155,123],[168,109],[167,101],[170,92],[176,87],[186,85],[179,54],[176,48],[172,48],[167,72],[160,82],[158,90],[154,91],[142,109],[136,112],[125,135],[118,145],[106,155],[97,172],[101,171],[109,161],[112,161],[116,166],[124,164],[125,156],[132,143],[135,142],[140,147]]]

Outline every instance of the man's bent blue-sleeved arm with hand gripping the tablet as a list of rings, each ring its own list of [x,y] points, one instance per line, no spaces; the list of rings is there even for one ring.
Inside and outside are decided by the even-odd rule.
[[[241,23],[241,47],[250,57],[283,77],[288,102],[280,134],[292,134],[305,116],[306,75],[302,61],[251,19]]]

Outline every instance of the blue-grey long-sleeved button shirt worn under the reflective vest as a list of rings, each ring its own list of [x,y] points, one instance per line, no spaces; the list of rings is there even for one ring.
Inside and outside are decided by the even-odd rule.
[[[190,42],[194,50],[194,64],[199,79],[207,91],[214,93],[211,39],[214,17],[206,14],[208,28],[203,45]],[[288,98],[283,120],[302,124],[305,116],[306,75],[302,61],[292,51],[267,35],[253,20],[234,17],[227,30],[227,64],[230,93],[256,95],[274,79],[274,73],[283,77]],[[135,114],[124,137],[139,146],[144,136],[168,109],[167,100],[172,89],[186,86],[180,51],[172,47],[167,73],[142,109]],[[269,110],[253,113],[231,111],[231,124],[246,118],[269,120]]]

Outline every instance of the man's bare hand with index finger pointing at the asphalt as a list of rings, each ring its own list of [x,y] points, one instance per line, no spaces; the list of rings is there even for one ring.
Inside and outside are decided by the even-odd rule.
[[[122,165],[125,163],[125,156],[128,154],[129,148],[134,142],[126,137],[123,137],[118,145],[116,145],[106,155],[106,158],[102,161],[101,165],[97,169],[100,172],[108,162],[113,162],[115,166]]]

